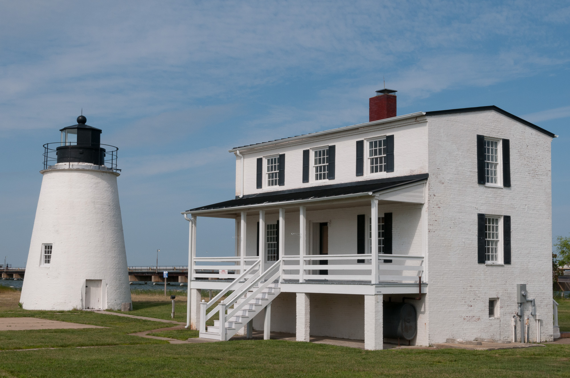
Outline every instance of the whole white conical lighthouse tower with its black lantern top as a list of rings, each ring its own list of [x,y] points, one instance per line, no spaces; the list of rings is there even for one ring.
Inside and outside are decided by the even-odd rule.
[[[101,145],[86,117],[77,122],[44,145],[20,301],[26,310],[130,310],[117,148]]]

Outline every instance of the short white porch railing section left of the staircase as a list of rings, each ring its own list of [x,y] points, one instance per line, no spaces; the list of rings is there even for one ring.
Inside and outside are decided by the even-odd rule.
[[[229,256],[229,257],[194,257],[192,259],[192,279],[197,278],[217,278],[218,280],[223,280],[227,278],[236,278],[239,274],[243,273],[243,268],[240,264],[241,257],[239,256]],[[243,258],[245,261],[245,269],[249,269],[253,264],[259,261],[258,256],[245,256]],[[198,265],[202,263],[204,265]],[[207,265],[210,263],[211,265]],[[215,273],[211,270],[217,270],[218,272],[225,273]],[[210,271],[210,272],[209,272]],[[246,277],[248,278],[248,277]]]

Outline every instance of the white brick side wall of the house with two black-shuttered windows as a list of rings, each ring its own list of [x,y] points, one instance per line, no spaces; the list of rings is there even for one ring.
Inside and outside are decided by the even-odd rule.
[[[511,339],[517,283],[536,298],[541,339],[552,339],[551,138],[493,111],[429,117],[428,129],[429,342]],[[511,188],[477,184],[477,134],[510,139]],[[477,264],[477,213],[511,216],[511,265]],[[494,297],[500,319],[488,318]]]

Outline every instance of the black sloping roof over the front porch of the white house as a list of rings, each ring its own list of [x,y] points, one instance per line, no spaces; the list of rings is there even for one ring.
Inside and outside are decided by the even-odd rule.
[[[323,185],[319,187],[306,187],[291,190],[280,190],[272,192],[264,192],[253,195],[245,195],[243,198],[232,199],[229,201],[218,202],[207,206],[189,209],[186,212],[225,209],[241,206],[251,206],[258,204],[270,204],[287,201],[308,200],[315,198],[328,198],[353,194],[368,194],[370,192],[378,192],[390,188],[396,188],[421,180],[427,179],[428,174],[399,176],[392,178],[383,178],[376,180],[365,180],[348,182],[341,184]]]

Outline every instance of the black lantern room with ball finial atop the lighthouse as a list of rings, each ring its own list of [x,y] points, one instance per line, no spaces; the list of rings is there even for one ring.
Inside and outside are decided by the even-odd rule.
[[[58,163],[105,164],[105,149],[101,148],[101,130],[86,125],[87,118],[77,117],[77,125],[60,129],[62,142],[56,147]]]

